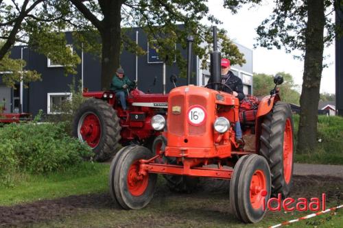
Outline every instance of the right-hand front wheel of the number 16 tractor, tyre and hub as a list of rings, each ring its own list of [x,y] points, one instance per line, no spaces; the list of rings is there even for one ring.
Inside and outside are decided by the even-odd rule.
[[[270,169],[267,160],[257,154],[244,155],[233,169],[230,181],[230,206],[244,223],[259,222],[270,198]]]

